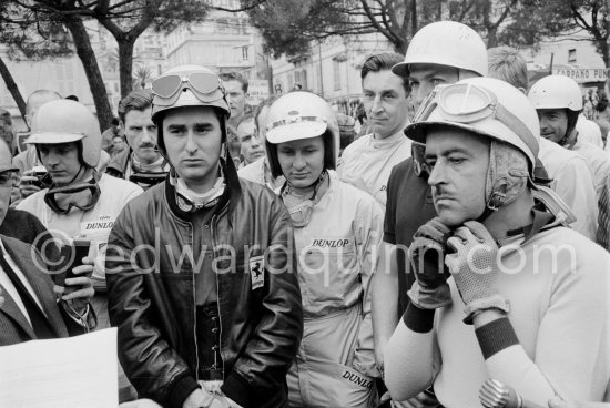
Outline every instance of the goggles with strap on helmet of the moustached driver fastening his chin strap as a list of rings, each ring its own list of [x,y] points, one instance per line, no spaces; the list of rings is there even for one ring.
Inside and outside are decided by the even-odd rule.
[[[481,86],[471,83],[436,86],[415,113],[414,123],[427,121],[437,108],[443,121],[469,124],[488,118],[496,120],[517,134],[531,152],[539,150],[529,128],[506,109],[495,93]]]

